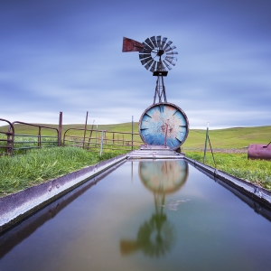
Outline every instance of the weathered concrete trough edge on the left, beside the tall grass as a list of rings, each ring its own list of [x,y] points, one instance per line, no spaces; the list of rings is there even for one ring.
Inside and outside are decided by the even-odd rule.
[[[126,158],[126,154],[119,155],[99,164],[85,167],[79,171],[0,198],[0,232],[70,192],[83,182],[88,182],[89,179],[99,173],[103,173],[110,167],[121,163]]]

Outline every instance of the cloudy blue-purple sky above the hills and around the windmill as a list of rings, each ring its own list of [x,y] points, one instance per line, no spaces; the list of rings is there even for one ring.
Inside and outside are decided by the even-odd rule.
[[[0,0],[0,118],[138,121],[156,79],[122,52],[123,37],[161,35],[178,51],[167,100],[190,128],[270,126],[270,10],[270,0]]]

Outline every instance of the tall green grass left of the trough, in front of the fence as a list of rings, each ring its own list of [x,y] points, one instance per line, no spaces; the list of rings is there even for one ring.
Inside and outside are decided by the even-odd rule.
[[[78,147],[29,150],[26,154],[0,156],[0,197],[77,171],[115,157],[121,152],[99,156]]]

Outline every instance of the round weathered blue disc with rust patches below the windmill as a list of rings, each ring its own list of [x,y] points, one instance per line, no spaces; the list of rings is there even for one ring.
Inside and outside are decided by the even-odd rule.
[[[147,145],[180,147],[189,133],[189,122],[180,107],[171,103],[154,104],[139,120],[139,134]]]

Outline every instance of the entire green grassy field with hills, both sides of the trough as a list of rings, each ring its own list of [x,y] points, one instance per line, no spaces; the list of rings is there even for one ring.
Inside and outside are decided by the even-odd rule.
[[[58,127],[57,125],[44,124],[42,126]],[[64,125],[62,126],[62,135],[69,128],[84,128],[84,125]],[[91,125],[88,126],[88,129],[90,128]],[[6,129],[6,126],[0,127],[0,131],[6,131]],[[137,129],[138,123],[134,123],[135,133],[138,133]],[[124,123],[98,126],[98,130],[131,132],[132,127],[131,123]],[[15,133],[20,135],[38,135],[38,130],[32,126],[17,125],[15,126]],[[70,131],[70,133],[78,136],[83,135],[83,131]],[[112,134],[108,134],[107,138],[110,135],[112,136]],[[42,130],[42,135],[56,135],[56,133],[53,130]],[[205,135],[206,131],[204,130],[190,130],[186,142],[182,145],[182,151],[188,157],[202,162]],[[207,153],[206,164],[213,167],[216,166],[221,171],[248,180],[249,182],[255,182],[271,190],[271,162],[251,161],[247,157],[249,144],[267,145],[271,141],[271,126],[210,130],[209,135],[212,149],[215,151],[216,165],[213,164],[210,152]],[[89,134],[86,136],[88,137]],[[20,136],[17,136],[17,138],[21,138],[20,140],[22,140]],[[130,140],[131,135],[123,135],[123,138]],[[135,135],[135,140],[140,140],[139,135]],[[79,148],[76,148],[77,150],[67,148],[68,153],[64,153],[65,151],[61,149],[63,148],[47,148],[27,151],[26,155],[15,155],[14,157],[1,156],[0,196],[20,191],[31,185],[45,182],[46,180],[70,173],[90,164],[98,163],[100,159],[107,159],[121,153],[107,151],[100,158],[97,153],[86,152]],[[123,151],[122,153],[125,152]],[[67,160],[68,156],[71,157],[71,161]],[[70,166],[67,166],[67,164]]]

